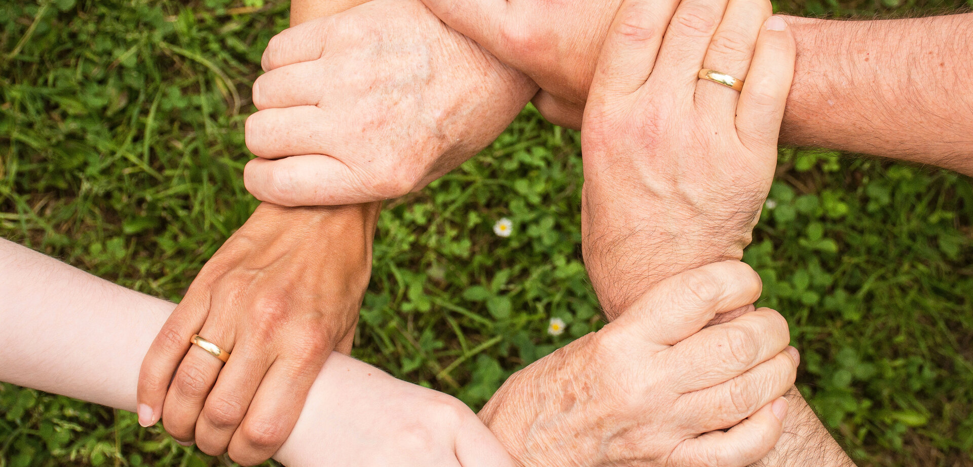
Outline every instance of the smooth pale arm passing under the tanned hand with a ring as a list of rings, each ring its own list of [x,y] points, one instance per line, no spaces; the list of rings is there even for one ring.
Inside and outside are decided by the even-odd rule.
[[[135,410],[142,355],[175,305],[4,239],[0,297],[0,380]],[[292,467],[509,467],[506,457],[461,402],[337,352],[274,454]]]

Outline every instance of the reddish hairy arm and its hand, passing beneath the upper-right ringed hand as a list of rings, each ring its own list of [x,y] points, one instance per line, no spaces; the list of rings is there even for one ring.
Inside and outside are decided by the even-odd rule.
[[[581,125],[598,51],[622,0],[424,1],[540,85],[534,102],[546,117]],[[654,0],[652,8],[672,3]],[[798,60],[781,142],[973,174],[973,14],[787,20]]]

